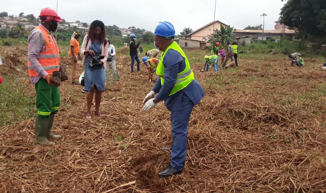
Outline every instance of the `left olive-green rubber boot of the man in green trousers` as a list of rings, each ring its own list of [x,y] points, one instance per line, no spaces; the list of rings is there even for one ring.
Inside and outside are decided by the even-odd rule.
[[[50,118],[39,118],[35,120],[35,141],[39,144],[54,145],[55,143],[46,139]]]

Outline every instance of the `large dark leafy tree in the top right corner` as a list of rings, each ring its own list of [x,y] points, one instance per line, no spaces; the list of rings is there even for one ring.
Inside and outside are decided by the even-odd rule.
[[[281,8],[280,22],[295,29],[300,38],[318,36],[326,39],[326,1],[287,0]]]

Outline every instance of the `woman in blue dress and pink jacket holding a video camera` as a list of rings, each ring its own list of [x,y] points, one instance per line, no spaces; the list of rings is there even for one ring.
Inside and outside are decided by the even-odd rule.
[[[82,65],[85,66],[84,81],[87,91],[87,114],[86,118],[91,119],[91,107],[95,93],[94,115],[102,117],[99,107],[102,98],[102,91],[105,90],[105,63],[108,58],[109,45],[106,37],[104,23],[95,20],[88,28],[82,42],[81,54],[84,55]]]

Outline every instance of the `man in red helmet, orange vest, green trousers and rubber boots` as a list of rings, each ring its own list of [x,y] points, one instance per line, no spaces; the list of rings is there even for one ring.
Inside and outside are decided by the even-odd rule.
[[[60,64],[57,42],[49,32],[55,32],[57,23],[62,20],[57,12],[49,7],[43,8],[38,17],[41,23],[28,36],[27,52],[28,74],[36,90],[35,140],[40,144],[54,145],[47,137],[61,138],[61,135],[51,133],[54,115],[60,106],[60,81],[54,79],[52,73],[59,71]]]

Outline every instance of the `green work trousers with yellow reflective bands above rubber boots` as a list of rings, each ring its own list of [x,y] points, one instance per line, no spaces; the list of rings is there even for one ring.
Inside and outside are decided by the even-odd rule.
[[[37,117],[49,118],[58,112],[60,106],[59,87],[53,87],[40,78],[35,84]]]

